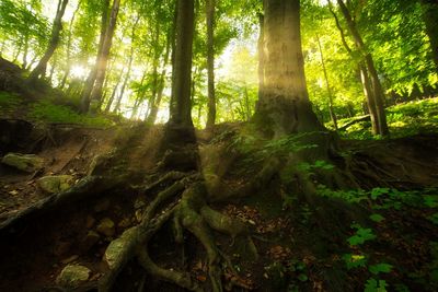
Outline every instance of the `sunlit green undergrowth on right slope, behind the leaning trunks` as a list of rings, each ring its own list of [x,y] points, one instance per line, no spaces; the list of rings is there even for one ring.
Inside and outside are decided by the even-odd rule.
[[[342,127],[353,119],[341,119],[338,125]],[[438,97],[391,106],[387,109],[387,119],[392,138],[438,132]],[[339,135],[347,139],[378,139],[371,135],[370,121],[354,124]]]

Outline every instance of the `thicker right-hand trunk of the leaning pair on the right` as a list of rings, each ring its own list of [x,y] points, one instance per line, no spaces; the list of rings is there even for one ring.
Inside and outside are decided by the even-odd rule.
[[[378,133],[381,136],[388,136],[389,129],[387,124],[387,115],[384,113],[384,93],[379,80],[378,72],[374,67],[374,62],[372,60],[372,56],[367,50],[366,45],[359,34],[359,31],[356,27],[356,23],[348,11],[348,8],[346,7],[343,0],[337,0],[337,3],[339,5],[341,12],[343,13],[347,22],[347,26],[355,40],[356,48],[362,55],[365,65],[367,67],[369,79],[371,81],[371,91],[373,93],[374,104],[376,104],[376,113],[379,126]]]

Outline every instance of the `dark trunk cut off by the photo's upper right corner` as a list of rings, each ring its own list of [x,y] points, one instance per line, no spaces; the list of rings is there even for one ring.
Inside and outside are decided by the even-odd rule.
[[[438,71],[438,0],[420,0],[426,33],[429,37],[431,56]]]

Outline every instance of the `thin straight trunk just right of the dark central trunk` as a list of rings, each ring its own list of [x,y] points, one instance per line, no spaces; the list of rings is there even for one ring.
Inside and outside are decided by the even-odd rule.
[[[216,0],[207,0],[207,71],[208,71],[208,115],[207,128],[215,126],[216,97],[215,97],[215,8]]]

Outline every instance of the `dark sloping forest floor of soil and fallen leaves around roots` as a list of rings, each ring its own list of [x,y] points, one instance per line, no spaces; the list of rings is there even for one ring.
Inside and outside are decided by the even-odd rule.
[[[201,179],[208,188],[219,177],[227,190],[214,185],[210,192],[241,190],[273,156],[307,148],[293,139],[261,141],[244,125],[228,124],[196,131],[189,150],[157,160],[161,126],[41,125],[20,110],[0,117],[0,156],[32,153],[43,164],[33,172],[0,164],[0,291],[96,291],[110,273],[108,246],[141,225],[155,198],[178,178]],[[344,139],[337,160],[278,166],[266,184],[244,196],[211,200],[211,209],[247,230],[244,236],[211,230],[223,257],[224,288],[437,291],[437,141],[438,132],[430,130],[387,140]],[[347,164],[355,165],[357,187],[324,184],[324,177]],[[69,175],[71,188],[44,191],[41,178],[58,175]],[[173,175],[177,178],[168,179]],[[96,177],[110,179],[85,188]],[[302,186],[307,180],[315,186],[312,196]],[[184,194],[166,206],[181,203]],[[157,221],[169,208],[159,209]],[[187,227],[181,243],[171,222],[163,222],[149,241],[151,259],[168,271],[187,271],[197,287],[210,291],[211,262],[199,234]],[[84,278],[83,272],[76,280],[70,275],[68,282],[60,276],[66,267],[78,266],[87,268]],[[112,291],[184,291],[141,266],[135,258],[125,262]]]

